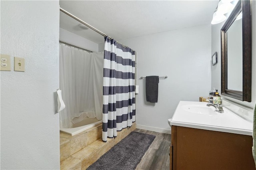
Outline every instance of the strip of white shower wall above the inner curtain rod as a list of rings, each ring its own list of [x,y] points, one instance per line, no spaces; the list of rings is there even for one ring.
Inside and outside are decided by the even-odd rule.
[[[98,44],[78,36],[72,32],[60,28],[60,41],[76,45],[78,47],[98,52]]]

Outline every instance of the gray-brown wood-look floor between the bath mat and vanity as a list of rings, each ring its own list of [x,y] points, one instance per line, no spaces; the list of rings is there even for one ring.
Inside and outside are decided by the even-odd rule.
[[[170,143],[171,135],[135,129],[134,132],[153,134],[156,136],[136,170],[170,170]]]

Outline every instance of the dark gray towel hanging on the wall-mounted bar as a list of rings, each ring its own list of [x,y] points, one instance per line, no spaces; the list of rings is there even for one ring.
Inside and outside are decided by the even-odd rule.
[[[158,101],[158,76],[146,76],[146,99],[149,102],[157,103]]]

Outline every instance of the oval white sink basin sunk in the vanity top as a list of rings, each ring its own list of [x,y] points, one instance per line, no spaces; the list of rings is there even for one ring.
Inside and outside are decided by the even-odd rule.
[[[187,112],[197,113],[201,115],[218,115],[214,107],[210,108],[206,105],[184,105],[182,109]]]

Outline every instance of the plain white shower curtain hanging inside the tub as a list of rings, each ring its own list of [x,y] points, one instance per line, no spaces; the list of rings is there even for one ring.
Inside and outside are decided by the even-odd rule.
[[[60,44],[60,89],[66,108],[60,128],[71,128],[85,117],[102,120],[103,52]]]

